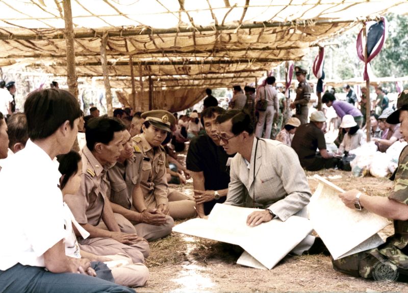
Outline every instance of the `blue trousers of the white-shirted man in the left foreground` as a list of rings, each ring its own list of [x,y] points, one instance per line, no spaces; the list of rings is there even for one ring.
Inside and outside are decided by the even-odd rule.
[[[17,263],[0,271],[0,293],[135,293],[133,289],[103,279],[74,273],[55,274],[43,267]]]

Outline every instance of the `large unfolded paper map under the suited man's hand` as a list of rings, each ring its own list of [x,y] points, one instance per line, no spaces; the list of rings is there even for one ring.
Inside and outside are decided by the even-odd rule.
[[[173,231],[239,245],[270,270],[312,231],[312,226],[299,216],[247,226],[247,216],[257,210],[216,204],[208,219],[190,219]]]

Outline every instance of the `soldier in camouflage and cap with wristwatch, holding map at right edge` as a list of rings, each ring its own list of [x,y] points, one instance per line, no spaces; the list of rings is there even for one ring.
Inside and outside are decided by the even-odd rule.
[[[387,117],[388,124],[399,124],[404,139],[408,139],[408,90],[398,97],[398,109]],[[374,280],[408,282],[408,147],[398,160],[392,176],[394,187],[384,196],[370,196],[356,189],[339,194],[350,209],[368,210],[394,220],[394,235],[380,247],[333,260],[336,271]],[[391,178],[390,178],[391,179]]]

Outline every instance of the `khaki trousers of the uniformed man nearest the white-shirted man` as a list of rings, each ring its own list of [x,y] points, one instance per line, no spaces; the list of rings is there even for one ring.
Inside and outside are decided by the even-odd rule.
[[[95,237],[79,239],[80,248],[83,251],[96,255],[115,255],[123,253],[132,258],[133,263],[144,263],[149,256],[150,249],[147,241],[139,241],[132,245],[126,245],[112,238]]]

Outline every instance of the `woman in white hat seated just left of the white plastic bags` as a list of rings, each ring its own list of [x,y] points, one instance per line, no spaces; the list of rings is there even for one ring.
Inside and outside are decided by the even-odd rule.
[[[354,121],[353,116],[344,115],[340,127],[346,131],[343,141],[340,144],[338,154],[343,155],[361,146],[364,140],[364,132]]]

